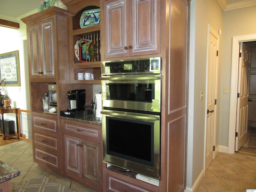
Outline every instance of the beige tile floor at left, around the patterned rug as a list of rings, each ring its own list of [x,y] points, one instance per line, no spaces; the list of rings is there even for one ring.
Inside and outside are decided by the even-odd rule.
[[[21,172],[20,176],[11,180],[12,186],[22,181],[30,180],[34,176],[45,175],[66,186],[70,186],[70,188],[78,192],[94,192],[94,190],[86,188],[69,178],[63,178],[49,170],[39,167],[38,164],[33,162],[32,153],[32,143],[25,140],[0,146],[0,160]]]

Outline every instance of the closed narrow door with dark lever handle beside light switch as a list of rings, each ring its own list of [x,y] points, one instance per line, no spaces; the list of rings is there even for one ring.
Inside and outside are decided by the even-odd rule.
[[[218,33],[208,25],[205,170],[214,159],[218,76]]]

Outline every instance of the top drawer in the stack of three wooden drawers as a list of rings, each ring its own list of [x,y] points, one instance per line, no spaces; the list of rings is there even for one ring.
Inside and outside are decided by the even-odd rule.
[[[57,120],[33,116],[33,126],[36,129],[57,132]]]

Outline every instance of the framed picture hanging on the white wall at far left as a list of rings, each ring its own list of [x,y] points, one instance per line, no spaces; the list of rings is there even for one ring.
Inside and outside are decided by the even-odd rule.
[[[19,51],[0,54],[0,80],[4,86],[20,86]]]

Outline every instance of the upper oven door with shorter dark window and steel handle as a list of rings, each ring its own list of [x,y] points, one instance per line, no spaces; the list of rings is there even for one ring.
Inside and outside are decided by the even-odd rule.
[[[103,76],[102,106],[127,110],[160,112],[161,76]]]

